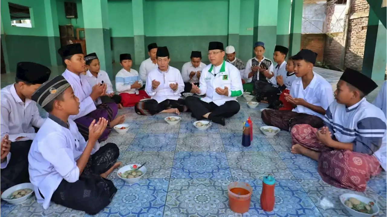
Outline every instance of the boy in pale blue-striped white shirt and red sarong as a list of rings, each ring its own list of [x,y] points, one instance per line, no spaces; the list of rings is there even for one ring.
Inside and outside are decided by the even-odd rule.
[[[139,72],[132,69],[132,56],[129,53],[120,54],[122,69],[116,74],[116,90],[121,97],[123,107],[132,107],[140,100],[149,98],[142,88]]]

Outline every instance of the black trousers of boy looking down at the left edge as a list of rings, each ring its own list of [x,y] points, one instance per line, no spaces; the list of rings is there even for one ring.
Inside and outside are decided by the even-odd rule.
[[[32,140],[11,143],[11,159],[4,169],[0,169],[0,191],[20,184],[29,183],[28,152]]]

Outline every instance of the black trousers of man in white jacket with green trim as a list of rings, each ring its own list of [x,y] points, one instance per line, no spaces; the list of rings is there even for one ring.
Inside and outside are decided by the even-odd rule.
[[[215,117],[232,117],[240,110],[240,105],[237,101],[227,101],[221,106],[217,106],[215,103],[206,103],[195,96],[188,96],[185,98],[188,108],[192,112],[192,117],[198,120],[203,119],[203,115],[211,112]]]

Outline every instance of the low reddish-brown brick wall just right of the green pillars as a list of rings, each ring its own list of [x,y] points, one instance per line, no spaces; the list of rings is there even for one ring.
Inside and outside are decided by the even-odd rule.
[[[301,49],[313,50],[317,53],[317,62],[323,62],[325,37],[325,34],[302,34]]]

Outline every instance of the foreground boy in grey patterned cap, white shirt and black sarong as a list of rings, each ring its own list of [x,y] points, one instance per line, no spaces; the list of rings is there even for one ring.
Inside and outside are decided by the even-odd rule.
[[[111,202],[117,189],[108,175],[121,163],[114,143],[100,147],[98,138],[108,121],[99,118],[85,141],[70,115],[79,112],[79,99],[63,76],[44,83],[32,98],[49,116],[28,154],[29,175],[38,203],[50,202],[95,215]]]

